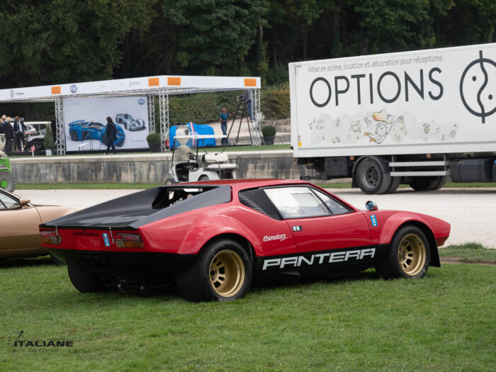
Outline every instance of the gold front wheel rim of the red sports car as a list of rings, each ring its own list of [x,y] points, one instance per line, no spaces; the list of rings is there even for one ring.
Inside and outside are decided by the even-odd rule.
[[[408,234],[401,239],[398,247],[398,262],[402,271],[415,276],[424,268],[427,257],[425,244],[417,234]]]

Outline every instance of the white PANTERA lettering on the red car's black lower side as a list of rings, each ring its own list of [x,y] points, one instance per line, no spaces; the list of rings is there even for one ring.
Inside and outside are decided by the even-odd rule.
[[[347,251],[320,252],[315,254],[300,254],[290,257],[277,257],[264,259],[261,267],[262,271],[274,269],[305,269],[316,266],[326,266],[329,264],[346,261],[365,261],[373,259],[376,248],[352,249]]]

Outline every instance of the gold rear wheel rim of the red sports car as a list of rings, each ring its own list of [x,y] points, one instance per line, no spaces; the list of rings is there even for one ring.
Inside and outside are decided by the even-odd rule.
[[[210,285],[218,295],[232,297],[244,283],[244,264],[235,251],[224,249],[210,261]]]

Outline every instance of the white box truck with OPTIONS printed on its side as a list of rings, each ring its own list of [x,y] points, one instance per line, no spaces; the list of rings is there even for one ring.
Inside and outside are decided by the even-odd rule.
[[[289,64],[291,145],[364,193],[496,181],[496,43]]]

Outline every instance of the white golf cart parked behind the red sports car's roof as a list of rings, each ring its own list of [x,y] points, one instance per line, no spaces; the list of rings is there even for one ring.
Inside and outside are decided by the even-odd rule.
[[[188,130],[184,128],[178,128],[176,134],[172,146],[171,170],[165,181],[166,185],[236,178],[237,164],[229,162],[229,157],[224,153],[225,147],[220,152],[207,152],[203,145],[205,140],[222,139],[227,137],[226,135],[188,135]],[[186,146],[188,140],[191,140],[192,147]],[[199,152],[200,147],[201,152]]]

